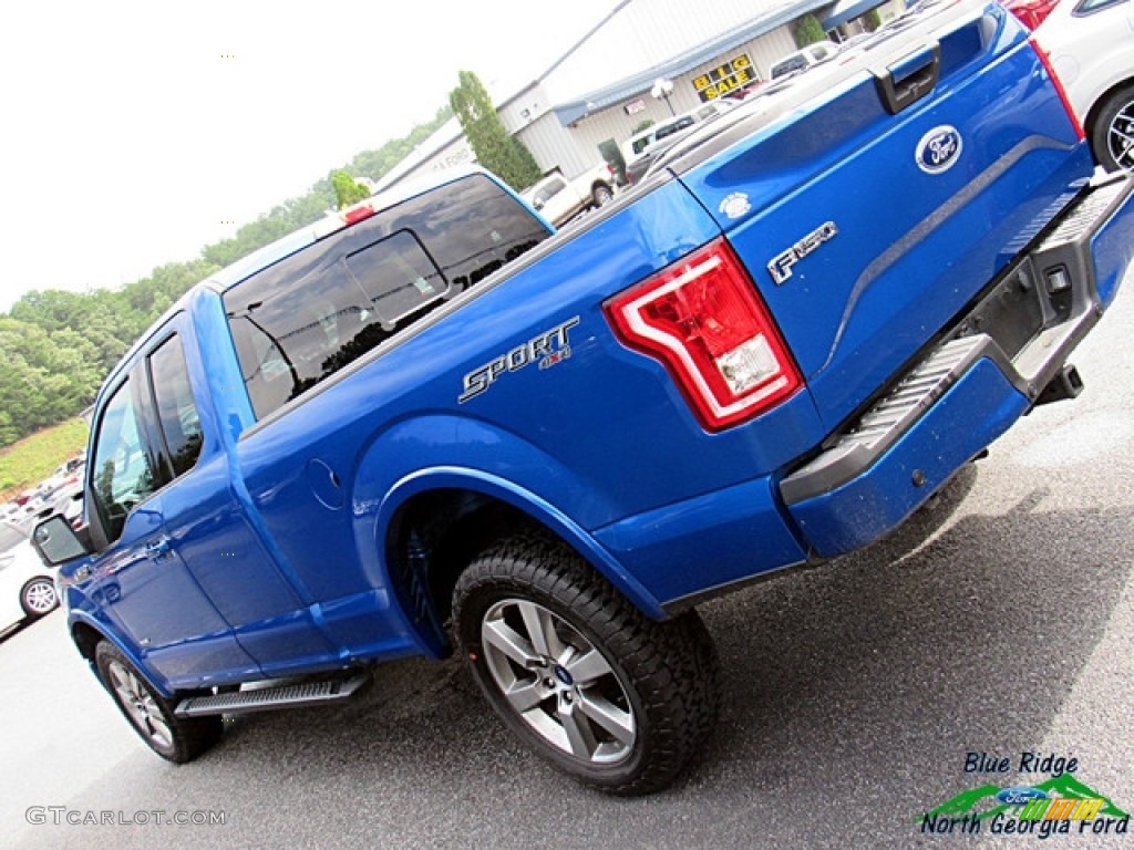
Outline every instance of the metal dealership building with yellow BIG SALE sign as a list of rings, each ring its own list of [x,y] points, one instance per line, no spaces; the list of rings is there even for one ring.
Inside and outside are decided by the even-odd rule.
[[[568,178],[602,162],[600,146],[620,145],[645,120],[659,121],[713,97],[765,79],[772,62],[797,49],[792,24],[814,15],[833,40],[882,19],[903,0],[620,0],[596,26],[540,77],[518,92],[499,93],[505,127],[544,172]],[[672,84],[658,97],[655,83]],[[669,88],[669,86],[663,86]],[[452,119],[379,182],[468,164],[475,155]]]

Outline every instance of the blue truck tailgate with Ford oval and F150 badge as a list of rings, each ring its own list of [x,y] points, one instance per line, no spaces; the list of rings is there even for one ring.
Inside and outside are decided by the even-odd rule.
[[[938,7],[736,110],[670,164],[750,269],[829,428],[1091,172],[1015,19],[996,5]]]

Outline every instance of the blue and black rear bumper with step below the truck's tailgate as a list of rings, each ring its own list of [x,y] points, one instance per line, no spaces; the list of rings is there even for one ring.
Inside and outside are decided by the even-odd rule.
[[[1114,299],[1134,254],[1134,180],[1092,186],[945,340],[780,482],[814,554],[878,539],[1006,432]]]

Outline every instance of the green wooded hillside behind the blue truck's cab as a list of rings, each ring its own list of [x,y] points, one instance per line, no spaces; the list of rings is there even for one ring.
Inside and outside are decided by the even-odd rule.
[[[335,209],[335,175],[344,175],[356,188],[358,178],[378,180],[450,118],[452,111],[442,107],[431,122],[415,127],[404,138],[359,153],[306,195],[276,206],[242,227],[236,236],[205,246],[198,260],[158,266],[150,277],[118,290],[26,292],[8,315],[0,314],[0,447],[76,416],[88,406],[107,372],[194,283]],[[363,197],[370,194],[363,193]],[[51,462],[44,475],[59,462],[61,459]],[[23,482],[19,475],[16,483]],[[37,479],[29,481],[34,484]]]

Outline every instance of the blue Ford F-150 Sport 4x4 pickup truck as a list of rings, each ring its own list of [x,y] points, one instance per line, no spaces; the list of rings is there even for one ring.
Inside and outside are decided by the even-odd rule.
[[[293,233],[100,391],[86,526],[35,534],[74,641],[174,762],[458,652],[534,751],[662,788],[716,715],[699,600],[878,539],[1077,393],[1134,253],[1092,175],[1027,33],[963,1],[569,232],[472,172]]]

